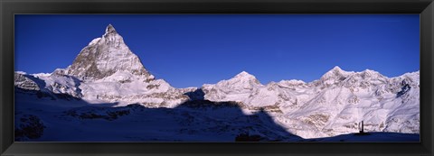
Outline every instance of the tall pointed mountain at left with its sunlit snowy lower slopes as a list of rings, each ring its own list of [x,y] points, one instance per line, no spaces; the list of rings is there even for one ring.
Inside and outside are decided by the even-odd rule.
[[[188,99],[184,89],[171,87],[164,79],[151,75],[111,24],[102,37],[80,51],[68,68],[25,77],[41,81],[39,88],[80,97],[91,104],[174,107]]]

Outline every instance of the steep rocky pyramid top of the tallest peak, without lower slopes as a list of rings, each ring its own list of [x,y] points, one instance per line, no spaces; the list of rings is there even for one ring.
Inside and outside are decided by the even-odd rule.
[[[102,38],[90,41],[65,71],[82,80],[107,78],[119,72],[154,79],[111,24]]]

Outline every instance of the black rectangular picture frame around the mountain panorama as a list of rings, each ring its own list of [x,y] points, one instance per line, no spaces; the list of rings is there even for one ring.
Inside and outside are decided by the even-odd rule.
[[[0,11],[2,156],[433,154],[432,0],[0,0]],[[420,14],[420,142],[14,142],[14,14]]]

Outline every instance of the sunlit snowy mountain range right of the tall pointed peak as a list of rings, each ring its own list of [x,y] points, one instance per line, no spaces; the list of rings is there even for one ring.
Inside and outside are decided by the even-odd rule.
[[[335,67],[309,83],[261,85],[243,71],[202,89],[205,99],[241,102],[246,113],[264,108],[288,132],[304,138],[355,133],[362,121],[365,131],[420,133],[419,75],[417,71],[387,78],[370,69]]]

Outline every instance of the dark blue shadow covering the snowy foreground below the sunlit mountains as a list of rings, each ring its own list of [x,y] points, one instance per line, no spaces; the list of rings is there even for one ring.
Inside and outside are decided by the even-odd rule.
[[[15,90],[15,94],[37,93]],[[344,134],[329,138],[303,139],[276,124],[263,109],[252,115],[236,102],[204,100],[202,89],[186,93],[190,101],[175,108],[148,108],[139,104],[116,106],[89,104],[52,112],[15,110],[15,141],[36,142],[419,142],[419,134]],[[52,100],[62,105],[71,97]],[[15,105],[24,105],[19,102]],[[25,106],[24,106],[25,107]],[[19,112],[19,113],[18,113]]]

